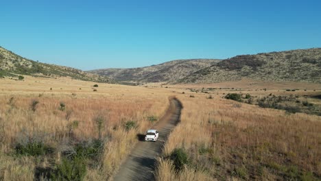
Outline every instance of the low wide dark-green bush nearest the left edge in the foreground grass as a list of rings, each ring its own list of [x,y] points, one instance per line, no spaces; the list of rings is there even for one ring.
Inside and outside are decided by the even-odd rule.
[[[23,156],[40,156],[53,151],[51,147],[45,145],[42,141],[30,141],[25,144],[18,143],[14,149],[16,154]]]

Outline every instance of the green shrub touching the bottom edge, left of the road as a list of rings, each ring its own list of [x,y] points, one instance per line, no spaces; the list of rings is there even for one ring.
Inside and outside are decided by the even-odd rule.
[[[86,162],[83,158],[69,160],[62,158],[56,171],[51,175],[52,180],[84,180],[86,176]]]

